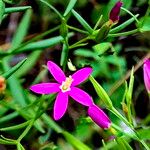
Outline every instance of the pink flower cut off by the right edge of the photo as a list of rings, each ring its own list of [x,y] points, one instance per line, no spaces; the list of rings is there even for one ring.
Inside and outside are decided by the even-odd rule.
[[[143,73],[146,90],[150,93],[150,59],[144,60]]]

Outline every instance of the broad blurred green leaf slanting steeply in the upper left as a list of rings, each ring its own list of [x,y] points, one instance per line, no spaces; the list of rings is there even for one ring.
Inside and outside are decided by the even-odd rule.
[[[32,14],[32,10],[31,9],[28,9],[18,28],[17,28],[17,31],[13,37],[13,40],[12,40],[12,43],[11,43],[11,49],[15,49],[17,47],[19,47],[19,45],[22,43],[25,35],[27,34],[27,31],[28,31],[28,27],[29,27],[29,24],[30,24],[30,18],[31,18],[31,14]],[[9,50],[11,51],[11,50]]]

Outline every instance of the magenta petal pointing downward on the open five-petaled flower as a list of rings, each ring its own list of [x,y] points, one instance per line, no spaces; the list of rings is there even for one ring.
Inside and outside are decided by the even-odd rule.
[[[68,94],[59,92],[54,104],[54,119],[59,120],[66,112],[68,106]]]

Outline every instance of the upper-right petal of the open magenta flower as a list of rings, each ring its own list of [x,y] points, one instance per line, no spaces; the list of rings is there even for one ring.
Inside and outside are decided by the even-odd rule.
[[[92,68],[86,67],[75,72],[72,75],[72,78],[73,78],[72,85],[73,86],[78,85],[84,80],[86,80],[89,77],[89,75],[92,73],[92,71],[93,71]]]

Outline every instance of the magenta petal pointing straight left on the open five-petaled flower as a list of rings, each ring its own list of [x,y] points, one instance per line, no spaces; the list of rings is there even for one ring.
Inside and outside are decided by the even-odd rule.
[[[40,83],[30,87],[30,90],[38,94],[51,94],[60,91],[58,83]]]

